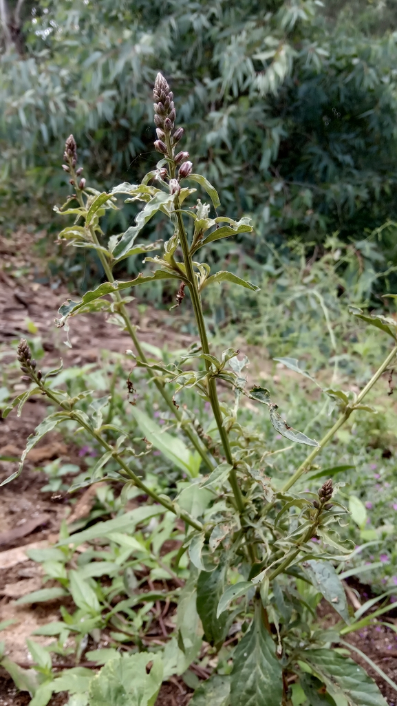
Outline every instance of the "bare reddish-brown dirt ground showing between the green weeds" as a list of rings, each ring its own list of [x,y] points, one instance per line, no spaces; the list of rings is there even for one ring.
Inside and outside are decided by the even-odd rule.
[[[124,352],[131,346],[131,341],[124,333],[119,332],[114,326],[105,321],[101,314],[81,316],[78,327],[71,323],[72,349],[64,345],[64,332],[54,327],[54,318],[59,305],[69,296],[65,291],[51,289],[48,285],[41,285],[33,281],[33,275],[22,279],[12,276],[14,266],[28,265],[32,269],[32,261],[24,261],[23,256],[18,256],[21,250],[26,251],[26,234],[18,234],[16,245],[10,246],[8,240],[0,238],[0,255],[3,258],[3,269],[0,268],[0,345],[4,351],[8,343],[15,345],[15,340],[28,334],[28,321],[33,321],[42,337],[46,351],[44,364],[57,364],[59,357],[64,359],[64,364],[83,365],[97,361],[98,352],[106,347],[114,352]],[[29,248],[28,248],[29,249]],[[19,258],[19,259],[18,259]],[[6,266],[4,267],[4,263]],[[12,266],[11,266],[12,265]],[[40,270],[40,263],[35,261],[34,268]],[[134,323],[140,325],[142,340],[153,345],[162,341],[170,342],[170,347],[176,349],[185,347],[192,342],[189,335],[181,333],[184,314],[170,317],[150,308],[143,315],[137,310],[132,312]],[[172,325],[171,325],[172,324]],[[5,345],[4,345],[5,344]],[[3,361],[11,360],[10,357]],[[272,365],[260,358],[260,364],[254,367],[253,373],[261,378],[268,378],[272,374]],[[0,359],[1,362],[1,359]],[[273,369],[274,372],[274,369]],[[290,371],[283,371],[288,376]],[[294,374],[292,373],[292,377]],[[278,382],[277,376],[273,378]],[[15,393],[24,389],[19,378],[13,381]],[[16,417],[13,412],[7,419],[0,418],[0,455],[18,457],[25,445],[25,439],[32,433],[35,426],[45,416],[45,402],[33,398],[28,402],[21,417]],[[42,606],[16,606],[14,599],[37,590],[41,585],[40,568],[28,560],[23,552],[27,545],[42,546],[48,542],[57,541],[59,525],[63,517],[70,511],[69,500],[61,498],[60,501],[52,498],[51,493],[42,493],[40,488],[45,483],[42,474],[35,471],[43,462],[61,457],[64,462],[74,462],[81,465],[81,458],[77,449],[67,448],[58,433],[50,433],[39,443],[28,457],[23,475],[11,484],[1,489],[1,517],[0,517],[0,621],[14,618],[16,623],[2,631],[1,638],[6,640],[8,653],[23,666],[28,666],[28,652],[25,647],[25,638],[29,637],[32,630],[48,621],[59,619],[59,602],[52,602]],[[0,462],[0,480],[7,477],[16,469],[12,461]],[[81,493],[82,495],[83,493]],[[25,532],[26,530],[26,532]],[[18,535],[18,536],[17,536]],[[368,587],[355,585],[360,593]],[[323,602],[319,611],[324,624],[335,621],[335,611]],[[393,614],[389,615],[390,621],[396,621]],[[49,638],[35,638],[45,644]],[[388,676],[397,681],[397,635],[384,626],[369,627],[360,633],[348,636],[352,645],[357,645],[371,659],[383,669]],[[365,662],[357,657],[357,662],[367,669]],[[72,665],[70,665],[72,666]],[[368,670],[371,674],[371,670]],[[397,703],[397,694],[375,673],[372,674],[379,688],[390,706]],[[181,679],[174,679],[162,685],[156,706],[186,706],[189,702],[191,689]],[[4,669],[0,668],[0,706],[27,706],[30,698],[27,693],[17,693],[13,681]],[[66,694],[55,695],[49,706],[63,706],[67,701]]]

